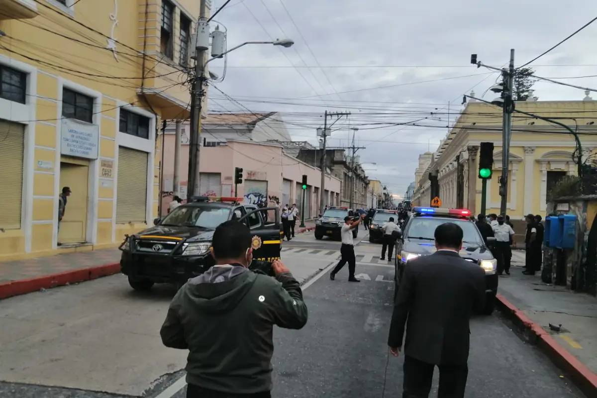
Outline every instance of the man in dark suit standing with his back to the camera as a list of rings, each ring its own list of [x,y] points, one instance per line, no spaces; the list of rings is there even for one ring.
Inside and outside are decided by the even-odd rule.
[[[460,257],[462,239],[459,226],[441,224],[435,229],[438,251],[405,266],[387,339],[390,353],[398,356],[407,326],[403,398],[429,396],[436,365],[438,397],[464,397],[469,319],[484,307],[485,271]]]

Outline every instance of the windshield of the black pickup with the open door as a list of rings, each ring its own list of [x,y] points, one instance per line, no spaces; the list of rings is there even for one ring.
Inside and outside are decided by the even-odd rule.
[[[216,229],[230,217],[229,208],[180,206],[168,214],[161,225],[171,227],[201,227]]]

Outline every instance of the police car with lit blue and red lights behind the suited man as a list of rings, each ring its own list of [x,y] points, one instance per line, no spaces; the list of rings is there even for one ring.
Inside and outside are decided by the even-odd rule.
[[[395,259],[395,291],[396,297],[398,285],[404,265],[420,255],[432,254],[435,248],[435,228],[444,223],[455,223],[461,227],[464,233],[460,257],[464,260],[478,264],[485,270],[485,314],[491,314],[496,306],[497,294],[497,260],[491,254],[490,248],[485,245],[481,233],[473,221],[469,220],[470,211],[466,209],[446,209],[432,207],[415,207],[413,214],[407,221],[402,236],[396,245]],[[496,238],[489,237],[488,244],[496,242]]]

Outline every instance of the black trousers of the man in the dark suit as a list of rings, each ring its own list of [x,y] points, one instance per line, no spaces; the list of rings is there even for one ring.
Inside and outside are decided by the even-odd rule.
[[[463,398],[469,367],[463,365],[438,365],[438,398]],[[404,382],[402,398],[427,398],[431,391],[435,365],[411,356],[404,357]]]

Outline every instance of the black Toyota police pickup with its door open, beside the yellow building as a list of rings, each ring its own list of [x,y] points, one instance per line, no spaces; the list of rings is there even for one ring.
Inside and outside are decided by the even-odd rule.
[[[196,196],[154,226],[127,236],[119,247],[120,265],[133,289],[146,291],[155,283],[182,286],[214,265],[211,238],[214,230],[227,220],[245,223],[253,235],[251,269],[270,266],[280,258],[281,228],[278,208],[258,208],[242,203],[243,198]],[[273,211],[273,221],[264,212]],[[270,274],[271,270],[261,270]]]

